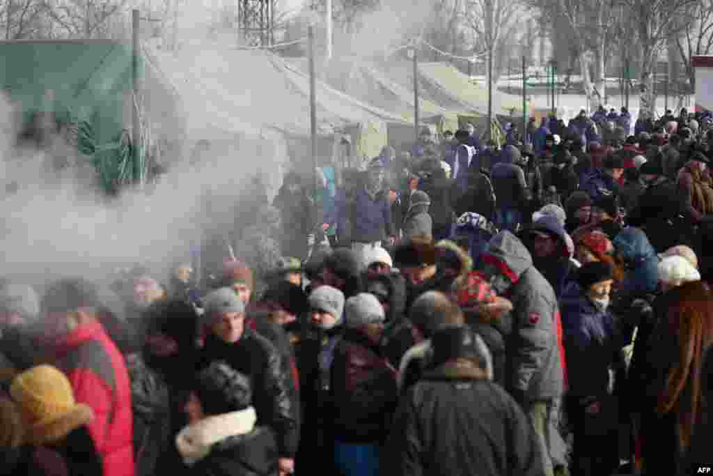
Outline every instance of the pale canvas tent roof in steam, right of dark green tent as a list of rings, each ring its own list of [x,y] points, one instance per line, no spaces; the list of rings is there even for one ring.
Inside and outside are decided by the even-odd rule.
[[[193,121],[240,121],[258,131],[279,131],[297,161],[309,156],[309,77],[267,51],[185,46],[152,51],[157,67],[180,96],[191,98]],[[189,119],[191,121],[191,119]],[[376,156],[386,143],[386,122],[401,118],[317,82],[319,155],[332,156],[349,131],[354,153]],[[262,133],[262,132],[260,132]]]

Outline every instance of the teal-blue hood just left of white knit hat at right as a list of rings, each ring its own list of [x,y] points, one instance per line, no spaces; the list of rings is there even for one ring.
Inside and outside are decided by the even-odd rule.
[[[653,293],[659,284],[659,258],[646,233],[639,228],[625,228],[615,236],[612,245],[617,254],[629,263],[622,290]]]

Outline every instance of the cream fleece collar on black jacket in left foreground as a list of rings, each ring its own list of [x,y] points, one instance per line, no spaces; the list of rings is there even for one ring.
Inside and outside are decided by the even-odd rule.
[[[253,407],[207,417],[181,430],[176,436],[176,447],[183,457],[183,462],[193,466],[210,454],[215,443],[252,432],[255,422],[257,413]]]

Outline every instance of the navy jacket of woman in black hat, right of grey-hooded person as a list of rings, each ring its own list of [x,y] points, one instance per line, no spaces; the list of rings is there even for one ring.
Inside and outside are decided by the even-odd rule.
[[[607,395],[609,367],[632,340],[634,327],[615,322],[608,311],[597,308],[573,283],[560,299],[567,355],[569,395]]]

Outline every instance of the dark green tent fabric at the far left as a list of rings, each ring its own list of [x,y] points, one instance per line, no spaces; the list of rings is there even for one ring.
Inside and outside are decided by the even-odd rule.
[[[23,121],[53,113],[76,131],[78,152],[90,156],[109,193],[145,175],[143,153],[123,140],[132,97],[133,51],[116,41],[0,42],[0,84]],[[141,74],[142,64],[138,59]],[[133,107],[129,103],[129,107]]]

